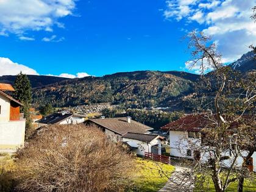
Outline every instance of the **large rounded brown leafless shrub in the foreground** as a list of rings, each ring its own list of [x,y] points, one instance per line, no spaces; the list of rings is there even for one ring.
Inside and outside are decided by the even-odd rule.
[[[123,191],[133,160],[94,127],[45,127],[18,152],[20,191]]]

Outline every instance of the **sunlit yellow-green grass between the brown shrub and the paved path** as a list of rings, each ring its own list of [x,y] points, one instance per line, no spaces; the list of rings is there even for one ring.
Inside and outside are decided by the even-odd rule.
[[[135,179],[135,185],[138,191],[158,191],[168,181],[166,176],[160,174],[159,169],[168,172],[169,175],[174,171],[174,166],[166,165],[164,163],[152,162],[151,160],[137,159],[137,179]]]

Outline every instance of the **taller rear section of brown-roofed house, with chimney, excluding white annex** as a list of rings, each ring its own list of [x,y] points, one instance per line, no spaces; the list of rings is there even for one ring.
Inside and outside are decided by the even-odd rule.
[[[130,117],[105,118],[102,116],[101,119],[88,119],[85,123],[99,127],[113,141],[122,141],[122,135],[127,132],[150,133],[149,130],[153,130],[152,127],[133,121]]]

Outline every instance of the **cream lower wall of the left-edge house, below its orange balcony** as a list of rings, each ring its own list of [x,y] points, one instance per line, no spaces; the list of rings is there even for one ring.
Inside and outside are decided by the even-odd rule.
[[[0,150],[24,145],[26,120],[0,123]]]

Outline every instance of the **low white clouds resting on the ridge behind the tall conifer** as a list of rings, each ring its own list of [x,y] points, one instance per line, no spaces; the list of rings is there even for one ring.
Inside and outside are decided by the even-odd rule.
[[[24,74],[32,74],[32,75],[39,75],[35,69],[29,68],[26,65],[22,65],[19,63],[12,62],[9,58],[0,57],[0,76],[4,75],[12,75],[15,76],[16,74],[22,72]],[[52,74],[48,74],[48,76],[55,76]],[[90,76],[87,73],[81,72],[74,74],[68,74],[68,73],[62,73],[59,76],[56,77],[65,77],[65,78],[82,78],[82,77],[88,77]]]

